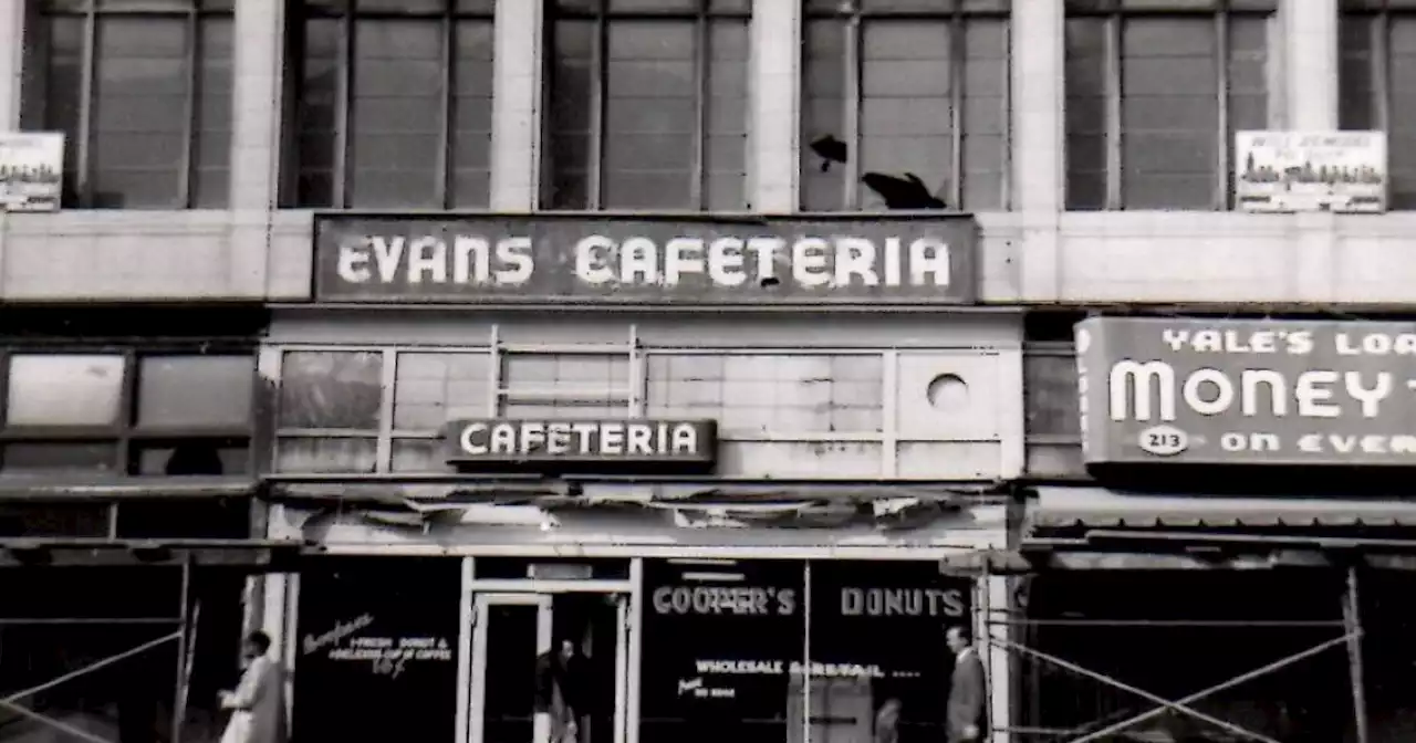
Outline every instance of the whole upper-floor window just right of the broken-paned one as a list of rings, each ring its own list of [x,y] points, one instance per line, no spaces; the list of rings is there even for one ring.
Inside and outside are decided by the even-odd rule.
[[[1267,129],[1273,0],[1068,0],[1066,208],[1223,209]]]

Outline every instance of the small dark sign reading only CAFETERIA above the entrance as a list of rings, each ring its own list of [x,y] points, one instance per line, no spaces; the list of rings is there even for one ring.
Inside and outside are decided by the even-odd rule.
[[[716,453],[711,420],[455,420],[447,426],[453,464],[643,463],[709,464]]]

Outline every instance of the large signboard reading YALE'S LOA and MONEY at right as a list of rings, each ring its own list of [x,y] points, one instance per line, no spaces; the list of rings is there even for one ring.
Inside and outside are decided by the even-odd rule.
[[[1416,466],[1416,323],[1090,318],[1089,464]]]

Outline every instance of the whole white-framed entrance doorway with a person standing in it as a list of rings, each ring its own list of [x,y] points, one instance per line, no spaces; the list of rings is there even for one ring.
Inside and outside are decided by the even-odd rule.
[[[479,593],[472,618],[470,743],[624,743],[627,593]]]

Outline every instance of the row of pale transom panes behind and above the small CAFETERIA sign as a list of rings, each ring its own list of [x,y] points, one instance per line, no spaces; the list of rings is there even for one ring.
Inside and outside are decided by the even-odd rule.
[[[276,468],[446,471],[446,423],[490,416],[712,419],[725,442],[874,446],[878,461],[884,408],[879,352],[292,348]]]

